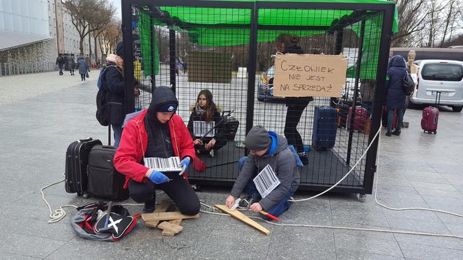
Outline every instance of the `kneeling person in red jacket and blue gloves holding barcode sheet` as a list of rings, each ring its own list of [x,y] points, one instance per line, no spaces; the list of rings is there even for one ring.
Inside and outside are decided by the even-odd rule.
[[[114,167],[126,175],[124,188],[130,197],[144,202],[144,213],[155,208],[155,189],[163,190],[185,215],[199,212],[199,199],[182,176],[195,159],[190,132],[182,118],[175,114],[179,101],[174,92],[160,86],[153,93],[148,109],[126,123],[121,143],[114,155]],[[182,171],[160,172],[144,166],[145,158],[181,159]]]

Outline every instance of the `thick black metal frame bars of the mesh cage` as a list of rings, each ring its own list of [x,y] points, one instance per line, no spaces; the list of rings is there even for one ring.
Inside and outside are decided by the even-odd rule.
[[[245,132],[248,133],[250,128],[252,128],[254,120],[254,105],[255,105],[255,75],[257,71],[257,33],[259,29],[328,29],[327,26],[278,26],[278,25],[259,25],[258,24],[258,14],[259,9],[261,8],[302,8],[302,9],[321,9],[321,10],[355,10],[360,12],[358,15],[358,22],[361,22],[361,31],[360,31],[360,47],[358,48],[358,58],[357,58],[357,67],[356,67],[356,80],[355,80],[355,95],[353,104],[356,104],[356,97],[359,91],[359,73],[360,73],[360,62],[362,59],[362,43],[363,43],[363,34],[365,32],[365,17],[362,16],[361,10],[374,11],[377,14],[382,15],[382,24],[381,24],[381,40],[379,43],[379,55],[377,59],[377,75],[376,82],[377,86],[384,86],[386,84],[386,68],[388,66],[388,53],[390,49],[390,40],[393,34],[393,15],[394,15],[394,5],[393,4],[384,4],[384,3],[321,3],[321,2],[266,2],[266,1],[199,1],[199,0],[122,0],[122,31],[123,31],[123,43],[124,43],[124,56],[128,61],[134,59],[134,45],[132,38],[132,7],[133,6],[146,6],[149,8],[152,15],[155,15],[155,11],[159,10],[158,6],[183,6],[183,7],[204,7],[204,8],[245,8],[249,9],[251,12],[251,22],[250,24],[244,25],[233,25],[227,24],[227,26],[236,26],[240,28],[250,29],[250,42],[249,42],[249,53],[250,59],[248,62],[248,95],[247,95],[247,112],[245,118]],[[158,9],[156,9],[158,8]],[[148,10],[148,9],[147,9]],[[153,17],[151,17],[153,19]],[[176,21],[172,20],[172,24],[175,24]],[[152,23],[151,23],[152,24]],[[206,25],[202,25],[206,26]],[[211,24],[207,26],[219,26],[223,27],[223,24]],[[153,38],[153,26],[151,26],[151,38]],[[342,28],[339,28],[337,37],[335,39],[335,53],[339,54],[342,48]],[[170,84],[172,84],[172,89],[176,89],[176,75],[174,64],[176,62],[176,49],[175,47],[175,31],[169,29],[169,69],[170,69]],[[153,52],[153,48],[151,48]],[[153,56],[153,55],[151,55]],[[125,111],[126,113],[135,111],[135,96],[133,91],[133,86],[135,82],[134,76],[134,66],[124,66],[124,72],[126,75],[126,95],[125,95]],[[153,60],[152,63],[153,64]],[[152,66],[154,67],[154,66]],[[155,86],[155,73],[151,72],[151,85]],[[374,91],[374,100],[382,100],[386,95],[386,90],[381,87],[375,88]],[[376,159],[377,159],[377,148],[378,148],[378,139],[374,139],[374,134],[379,130],[381,125],[381,114],[382,114],[382,104],[381,102],[373,102],[372,104],[372,122],[370,135],[368,136],[368,144],[372,143],[371,148],[367,151],[366,160],[365,160],[365,172],[363,175],[363,185],[361,187],[349,187],[340,185],[333,189],[333,192],[349,192],[349,193],[359,193],[359,194],[371,194],[373,186],[374,172],[376,171]],[[351,123],[354,123],[354,116],[351,116]],[[353,131],[349,132],[349,146],[348,146],[348,157],[346,164],[351,165],[350,155],[351,153],[351,143]],[[231,185],[234,183],[234,180],[219,180],[214,178],[209,179],[196,179],[190,178],[191,183],[195,184],[205,184],[205,185]],[[326,184],[317,184],[317,183],[301,183],[299,186],[302,190],[312,190],[312,191],[321,191],[326,190],[331,185]]]

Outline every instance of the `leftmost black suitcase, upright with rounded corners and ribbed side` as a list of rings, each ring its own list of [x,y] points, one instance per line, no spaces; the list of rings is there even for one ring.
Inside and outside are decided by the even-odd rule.
[[[93,146],[101,144],[100,140],[91,137],[72,142],[66,151],[66,168],[64,171],[64,187],[66,192],[82,196],[87,190],[87,167],[89,153]]]

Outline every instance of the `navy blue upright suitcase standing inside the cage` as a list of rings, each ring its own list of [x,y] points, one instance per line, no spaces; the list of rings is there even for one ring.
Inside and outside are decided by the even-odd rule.
[[[315,107],[312,146],[318,151],[335,146],[337,112],[333,107]]]

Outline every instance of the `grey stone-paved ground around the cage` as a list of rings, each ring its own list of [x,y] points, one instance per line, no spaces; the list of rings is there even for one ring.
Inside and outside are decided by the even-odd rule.
[[[94,118],[96,77],[57,72],[0,77],[1,259],[463,259],[463,240],[373,231],[282,227],[263,223],[270,236],[230,217],[202,213],[185,220],[172,238],[143,223],[117,243],[77,237],[68,216],[48,224],[40,188],[63,178],[68,144],[82,137],[106,142]],[[431,207],[463,214],[463,113],[441,107],[437,135],[420,130],[421,110],[409,109],[410,128],[381,135],[378,199],[395,207]],[[223,203],[229,190],[198,192],[207,204]],[[299,193],[296,199],[312,195]],[[45,190],[52,208],[91,199],[68,194],[63,183]],[[165,197],[165,196],[164,196]],[[158,200],[163,198],[161,196]],[[129,200],[129,202],[133,202]],[[141,206],[128,206],[137,213]],[[250,213],[252,215],[252,213]],[[281,224],[314,224],[463,236],[462,218],[423,211],[390,211],[368,195],[328,194],[295,203]],[[174,247],[185,245],[182,249]]]

